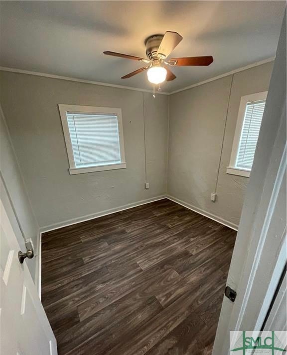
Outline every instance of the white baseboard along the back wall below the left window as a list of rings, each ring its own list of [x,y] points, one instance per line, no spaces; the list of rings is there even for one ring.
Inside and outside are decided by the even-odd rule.
[[[156,197],[152,197],[152,198],[149,198],[149,199],[146,199],[146,200],[141,200],[141,201],[138,201],[138,202],[132,202],[132,203],[128,203],[127,205],[111,208],[109,210],[105,210],[105,211],[102,211],[102,212],[92,213],[90,215],[86,215],[86,216],[82,216],[82,217],[78,217],[78,218],[74,218],[74,219],[69,219],[69,220],[66,220],[66,221],[60,222],[60,223],[50,224],[48,226],[41,227],[40,228],[40,232],[41,233],[45,233],[45,232],[49,232],[49,231],[52,231],[52,230],[55,230],[55,229],[71,226],[71,225],[76,224],[76,223],[85,222],[85,221],[89,221],[90,219],[99,218],[99,217],[103,217],[103,216],[106,216],[106,215],[110,215],[112,213],[128,210],[130,208],[141,206],[141,205],[145,205],[146,203],[162,200],[164,198],[166,198],[165,195],[156,196]]]

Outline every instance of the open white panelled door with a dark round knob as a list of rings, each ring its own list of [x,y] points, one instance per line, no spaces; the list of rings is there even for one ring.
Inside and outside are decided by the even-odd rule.
[[[0,200],[0,354],[56,355],[56,339]],[[22,251],[25,252],[25,251]]]

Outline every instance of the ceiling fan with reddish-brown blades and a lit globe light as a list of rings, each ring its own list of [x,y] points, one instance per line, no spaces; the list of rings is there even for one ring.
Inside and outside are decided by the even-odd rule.
[[[104,54],[113,55],[116,57],[138,60],[146,63],[140,69],[137,69],[125,76],[122,79],[128,79],[142,71],[147,70],[147,79],[152,84],[160,84],[164,80],[171,81],[176,78],[168,66],[185,66],[185,65],[209,65],[213,62],[211,55],[200,57],[184,57],[184,58],[171,58],[167,61],[166,57],[182,40],[182,36],[177,32],[166,31],[164,35],[154,34],[147,37],[144,41],[146,47],[147,58],[141,58],[134,55],[116,53],[105,51]]]

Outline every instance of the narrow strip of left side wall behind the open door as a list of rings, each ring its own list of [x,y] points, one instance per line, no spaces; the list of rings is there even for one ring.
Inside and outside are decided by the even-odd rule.
[[[37,275],[38,264],[38,234],[39,226],[36,222],[27,191],[19,170],[18,163],[10,142],[9,133],[0,109],[0,199],[12,224],[20,249],[25,252],[26,239],[32,239],[35,257],[27,265],[33,280]],[[11,204],[12,201],[12,204]],[[18,221],[17,221],[18,220]],[[20,227],[19,227],[19,224]],[[21,228],[21,229],[20,229]]]

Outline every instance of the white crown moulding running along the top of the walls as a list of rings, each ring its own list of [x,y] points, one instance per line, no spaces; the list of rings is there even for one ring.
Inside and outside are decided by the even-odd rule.
[[[207,84],[210,81],[221,79],[221,78],[223,78],[225,76],[232,75],[232,74],[238,73],[240,71],[244,71],[244,70],[251,69],[251,68],[254,68],[254,67],[262,65],[262,64],[269,63],[271,61],[274,61],[274,59],[275,59],[275,56],[267,58],[267,59],[263,59],[263,60],[260,60],[260,61],[257,61],[255,63],[240,67],[238,69],[234,69],[234,70],[228,71],[227,73],[223,73],[223,74],[220,74],[220,75],[217,75],[217,76],[213,76],[212,78],[209,78],[209,79],[206,79],[206,80],[203,80],[203,81],[199,81],[199,82],[197,82],[195,84],[183,87],[183,88],[178,89],[178,90],[174,90],[174,91],[171,91],[171,92],[156,91],[156,94],[160,94],[160,95],[176,94],[177,92],[181,92],[181,91],[184,91],[184,90],[192,89],[193,87],[196,87],[196,86],[199,86],[199,85],[203,85],[203,84]],[[110,86],[110,87],[117,87],[117,88],[120,88],[120,89],[127,89],[127,90],[135,90],[135,91],[153,93],[152,90],[140,89],[138,87],[125,86],[125,85],[116,85],[116,84],[108,84],[108,83],[100,82],[100,81],[84,80],[84,79],[78,79],[78,78],[73,78],[73,77],[69,77],[69,76],[60,76],[60,75],[54,75],[54,74],[47,74],[47,73],[41,73],[41,72],[38,72],[38,71],[30,71],[30,70],[9,68],[9,67],[5,67],[5,66],[0,66],[0,70],[2,70],[2,71],[10,71],[10,72],[19,73],[19,74],[29,74],[29,75],[43,76],[43,77],[52,78],[52,79],[83,82],[83,83],[92,84],[92,85]]]

